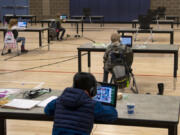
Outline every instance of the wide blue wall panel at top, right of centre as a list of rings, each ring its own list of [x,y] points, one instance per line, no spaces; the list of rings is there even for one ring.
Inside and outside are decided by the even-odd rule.
[[[70,0],[70,15],[82,15],[90,8],[91,15],[103,15],[105,22],[128,22],[150,8],[150,0]]]

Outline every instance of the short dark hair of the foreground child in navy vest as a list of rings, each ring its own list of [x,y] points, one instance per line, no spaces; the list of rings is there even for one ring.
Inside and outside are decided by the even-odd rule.
[[[91,73],[80,72],[74,75],[73,88],[87,90],[91,95],[91,89],[96,88],[96,79]]]

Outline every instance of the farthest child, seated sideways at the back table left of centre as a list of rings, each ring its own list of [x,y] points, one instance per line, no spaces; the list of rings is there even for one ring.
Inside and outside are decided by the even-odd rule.
[[[61,23],[65,21],[65,20],[61,20],[60,19],[60,15],[56,15],[56,32],[57,32],[57,40],[63,40],[63,36],[66,32],[65,28],[62,27]],[[59,37],[59,33],[61,33],[60,37]]]

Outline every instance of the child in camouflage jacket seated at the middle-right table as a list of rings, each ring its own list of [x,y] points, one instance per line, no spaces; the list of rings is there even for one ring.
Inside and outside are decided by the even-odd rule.
[[[128,66],[132,65],[133,62],[133,53],[130,47],[125,47],[120,43],[120,35],[118,33],[113,33],[111,35],[111,44],[107,47],[106,52],[104,53],[103,62],[104,62],[104,76],[103,82],[108,82],[108,74],[112,71],[112,68],[115,66],[111,60],[111,52],[121,49],[125,51],[125,60]]]

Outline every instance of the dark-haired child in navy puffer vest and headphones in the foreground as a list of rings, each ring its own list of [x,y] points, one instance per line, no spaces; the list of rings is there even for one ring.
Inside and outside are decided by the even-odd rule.
[[[113,122],[117,111],[92,99],[96,95],[96,79],[90,73],[76,73],[73,87],[45,107],[54,116],[52,135],[90,135],[94,121]]]

